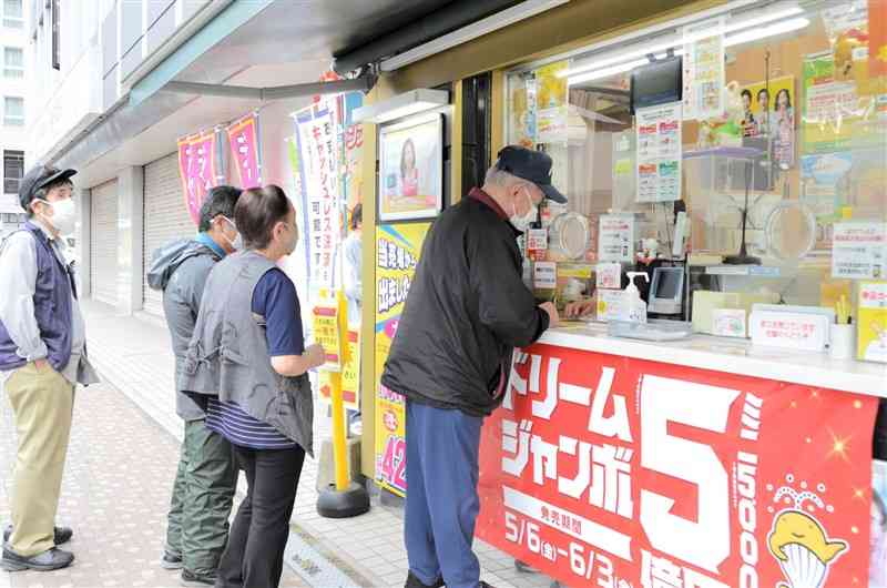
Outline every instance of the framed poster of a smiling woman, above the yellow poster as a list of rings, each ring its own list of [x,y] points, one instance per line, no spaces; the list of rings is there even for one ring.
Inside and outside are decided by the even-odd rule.
[[[443,115],[379,131],[379,221],[432,219],[443,207]]]

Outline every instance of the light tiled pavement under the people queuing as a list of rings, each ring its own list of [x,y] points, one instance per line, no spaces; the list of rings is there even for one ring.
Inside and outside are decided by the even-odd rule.
[[[60,521],[75,528],[75,566],[51,574],[0,572],[0,588],[176,586],[174,574],[156,565],[165,533],[169,491],[177,459],[181,424],[175,417],[173,361],[169,335],[159,320],[120,316],[86,303],[90,354],[105,383],[79,391],[61,504]],[[11,410],[2,402],[0,419],[0,520],[8,520],[8,475],[14,459]],[[323,413],[318,410],[318,413]],[[328,419],[318,418],[319,439]],[[307,459],[293,515],[293,528],[336,562],[356,584],[402,586],[407,572],[402,511],[379,504],[351,519],[317,515],[317,463]],[[242,480],[242,487],[244,483]],[[482,578],[497,588],[542,588],[550,580],[518,572],[513,559],[476,544]],[[303,572],[304,574],[304,572]],[[285,570],[283,586],[318,586]]]

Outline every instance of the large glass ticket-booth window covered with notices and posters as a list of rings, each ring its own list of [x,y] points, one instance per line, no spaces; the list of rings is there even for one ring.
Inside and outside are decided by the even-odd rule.
[[[541,217],[546,256],[687,260],[750,276],[718,287],[793,304],[829,304],[843,278],[887,277],[887,67],[871,59],[887,39],[869,27],[887,3],[708,14],[509,72],[507,141],[548,152],[569,197]],[[584,253],[558,246],[583,234],[558,235],[568,220],[585,223]],[[839,243],[848,234],[868,241],[854,253]]]

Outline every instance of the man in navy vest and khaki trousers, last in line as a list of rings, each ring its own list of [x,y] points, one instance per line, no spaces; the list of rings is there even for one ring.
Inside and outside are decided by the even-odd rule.
[[[45,165],[22,179],[21,231],[0,244],[0,384],[18,430],[12,526],[0,566],[10,571],[64,568],[74,560],[57,546],[71,529],[55,527],[74,386],[99,382],[86,358],[86,333],[74,268],[61,239],[73,233],[74,170]]]

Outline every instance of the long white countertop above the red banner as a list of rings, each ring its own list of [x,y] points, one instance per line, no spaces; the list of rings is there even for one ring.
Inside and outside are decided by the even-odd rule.
[[[588,323],[553,328],[539,343],[887,398],[887,364],[756,347],[747,339],[693,335],[656,343],[611,337],[605,324]]]

